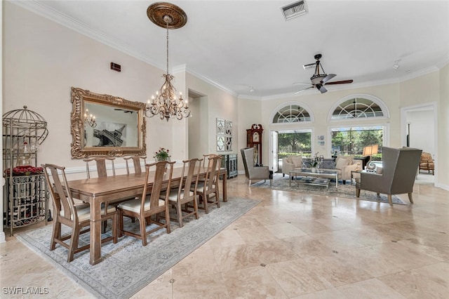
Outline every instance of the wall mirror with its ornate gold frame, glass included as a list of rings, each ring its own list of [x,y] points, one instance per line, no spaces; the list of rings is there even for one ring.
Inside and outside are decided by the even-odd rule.
[[[146,154],[144,103],[75,87],[71,102],[72,159]]]

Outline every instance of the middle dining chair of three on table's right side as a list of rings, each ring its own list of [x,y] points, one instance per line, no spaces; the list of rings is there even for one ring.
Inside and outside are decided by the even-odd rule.
[[[180,185],[171,189],[168,194],[168,204],[175,207],[177,215],[176,220],[180,224],[180,227],[183,226],[182,220],[184,218],[192,215],[195,216],[195,219],[199,218],[198,194],[196,194],[196,187],[198,185],[199,171],[201,169],[199,167],[201,160],[189,159],[182,161],[182,163]],[[162,196],[161,199],[166,200],[166,197]],[[189,210],[189,203],[191,202],[193,203],[193,210]],[[182,206],[184,206],[184,209],[182,209]]]

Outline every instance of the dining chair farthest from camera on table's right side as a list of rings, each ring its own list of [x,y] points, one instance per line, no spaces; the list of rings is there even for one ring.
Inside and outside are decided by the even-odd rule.
[[[206,159],[206,157],[204,158]],[[220,208],[220,192],[218,190],[218,180],[220,178],[220,165],[222,157],[217,154],[209,155],[206,176],[199,181],[196,187],[196,193],[199,195],[199,208],[206,214],[209,213],[209,206],[216,204]],[[190,190],[194,190],[191,187]],[[201,204],[203,206],[201,206]]]

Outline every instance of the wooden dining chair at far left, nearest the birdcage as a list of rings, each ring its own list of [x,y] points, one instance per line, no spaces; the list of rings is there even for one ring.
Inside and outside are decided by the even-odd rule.
[[[50,250],[60,244],[68,249],[67,263],[72,262],[74,254],[89,249],[90,244],[78,247],[79,236],[89,232],[91,224],[91,212],[89,204],[74,204],[72,192],[65,176],[65,167],[54,164],[42,164],[45,176],[53,199],[53,233],[51,236]],[[49,175],[49,172],[51,175]],[[112,236],[102,239],[102,243],[112,240],[117,243],[119,212],[114,206],[102,208],[101,219],[104,221],[112,220]],[[71,234],[62,235],[61,225],[67,225],[72,228]],[[85,228],[87,227],[87,228]],[[65,241],[70,239],[69,244]]]

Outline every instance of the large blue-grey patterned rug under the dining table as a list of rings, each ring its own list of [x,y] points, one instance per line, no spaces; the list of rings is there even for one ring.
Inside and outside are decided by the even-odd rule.
[[[227,202],[220,202],[220,208],[211,207],[212,211],[207,215],[201,211],[198,220],[186,218],[182,228],[177,222],[171,222],[170,234],[165,230],[151,234],[145,247],[142,241],[127,236],[120,238],[117,244],[107,242],[102,245],[102,262],[94,266],[89,264],[89,251],[76,253],[71,263],[67,263],[66,248],[57,245],[54,251],[50,251],[52,225],[17,234],[16,237],[36,253],[41,253],[95,298],[130,298],[259,202],[229,198]],[[138,221],[129,221],[125,225],[138,227]],[[107,232],[110,234],[110,230]],[[81,235],[80,246],[88,239],[89,234]]]

